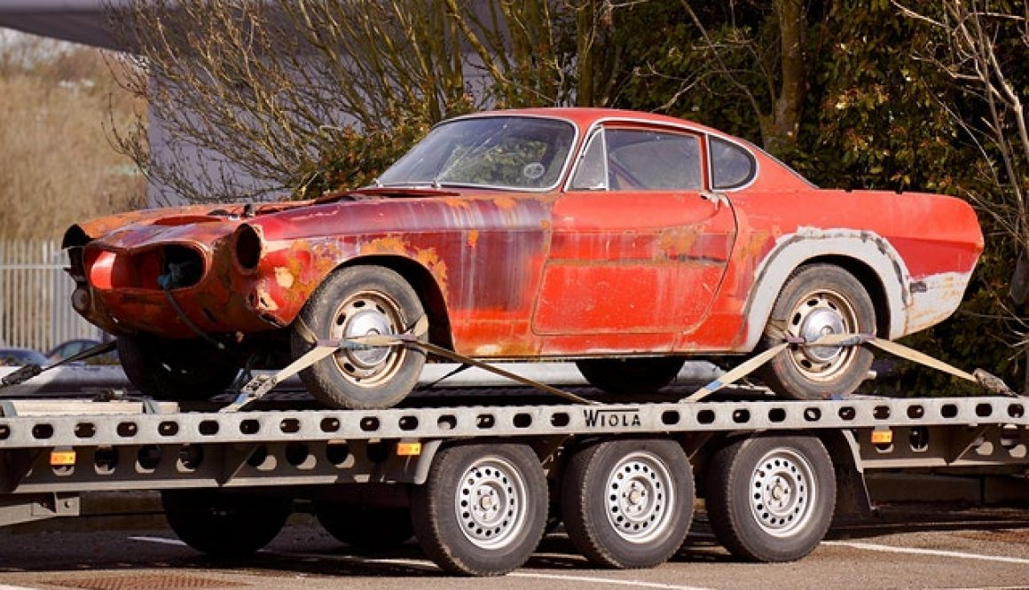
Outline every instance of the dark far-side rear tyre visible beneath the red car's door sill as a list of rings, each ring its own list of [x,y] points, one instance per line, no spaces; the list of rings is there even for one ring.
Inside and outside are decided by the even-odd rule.
[[[575,367],[591,385],[607,393],[653,393],[675,381],[684,362],[681,356],[583,358]]]

